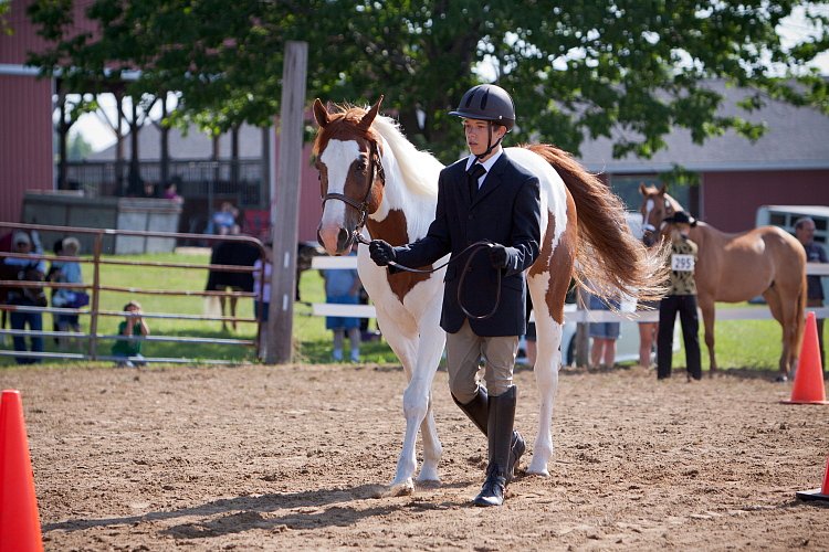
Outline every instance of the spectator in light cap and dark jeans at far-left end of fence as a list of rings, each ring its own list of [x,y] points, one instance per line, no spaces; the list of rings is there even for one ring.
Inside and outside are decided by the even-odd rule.
[[[34,243],[32,237],[22,231],[18,231],[12,236],[12,251],[20,255],[35,255],[40,253],[34,250]],[[39,248],[39,247],[38,247]],[[4,264],[12,266],[18,269],[18,279],[42,282],[46,274],[46,264],[41,259],[29,259],[20,257],[6,257]],[[14,288],[9,291],[8,295],[9,305],[17,305],[18,307],[45,307],[48,305],[46,295],[43,288],[33,287],[21,287]],[[11,328],[13,330],[25,330],[29,326],[29,331],[39,333],[43,331],[43,314],[32,312],[24,310],[13,310],[10,316]],[[31,352],[43,352],[43,336],[32,335]],[[25,337],[14,336],[14,350],[15,351],[28,351]],[[18,364],[34,364],[40,362],[36,357],[17,357],[15,362]]]

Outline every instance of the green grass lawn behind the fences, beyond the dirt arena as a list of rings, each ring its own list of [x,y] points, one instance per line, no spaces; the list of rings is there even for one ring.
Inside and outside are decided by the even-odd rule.
[[[207,250],[192,254],[148,254],[135,256],[118,256],[118,259],[141,261],[149,263],[188,263],[207,265],[209,254]],[[92,282],[93,267],[83,264],[84,282]],[[130,287],[134,289],[154,290],[190,290],[204,289],[207,270],[201,268],[164,268],[135,267],[120,265],[101,265],[101,283],[109,286]],[[332,332],[325,329],[325,318],[311,315],[311,302],[324,302],[323,279],[316,270],[303,273],[300,282],[300,293],[303,302],[294,304],[294,354],[298,362],[324,363],[330,362]],[[198,296],[145,295],[137,291],[102,291],[101,310],[122,310],[124,304],[130,299],[141,302],[147,314],[187,314],[201,315],[204,312],[204,299]],[[735,307],[745,304],[734,305]],[[720,305],[731,307],[731,305]],[[238,316],[253,318],[253,299],[239,299]],[[44,315],[44,329],[51,329],[51,315]],[[98,333],[113,335],[116,332],[120,317],[101,317]],[[217,339],[249,339],[255,337],[255,323],[240,322],[237,330],[222,331],[221,322],[177,319],[149,318],[154,336],[177,336],[202,338],[206,342],[170,343],[145,342],[143,353],[147,357],[189,358],[189,359],[221,359],[230,362],[255,362],[255,353],[250,347],[240,347],[211,342]],[[90,317],[82,316],[84,332],[88,332]],[[679,322],[678,322],[679,323]],[[369,326],[376,329],[376,321]],[[703,367],[709,365],[709,357],[702,336],[702,320],[700,320],[700,343],[702,348]],[[775,369],[780,354],[780,328],[773,320],[736,320],[720,321],[716,325],[717,361],[722,368],[758,368]],[[102,340],[99,354],[108,354],[113,340]],[[57,347],[52,338],[45,339],[46,350],[56,351]],[[347,347],[347,346],[346,346]],[[2,348],[10,350],[11,338],[6,336]],[[388,363],[397,362],[397,358],[384,340],[363,343],[360,353],[364,362]],[[0,365],[13,364],[10,357],[0,357]],[[70,361],[50,361],[70,362]],[[108,362],[104,364],[109,364]],[[684,367],[684,350],[674,355],[674,367]]]

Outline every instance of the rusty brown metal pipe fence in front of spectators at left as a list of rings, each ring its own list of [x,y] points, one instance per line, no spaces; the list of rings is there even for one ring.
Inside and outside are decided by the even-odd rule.
[[[261,335],[262,321],[259,318],[248,317],[233,317],[233,316],[206,316],[206,315],[192,315],[185,312],[141,312],[143,318],[147,319],[165,319],[165,320],[198,320],[203,322],[242,322],[242,323],[255,323],[255,338],[254,339],[234,339],[234,338],[204,338],[196,336],[157,336],[149,335],[146,337],[127,337],[120,335],[102,333],[98,331],[102,319],[113,317],[125,317],[127,312],[119,310],[109,310],[102,308],[101,295],[102,293],[129,293],[135,295],[144,296],[183,296],[183,297],[218,297],[218,298],[254,298],[258,296],[256,293],[244,293],[244,291],[217,291],[217,290],[204,290],[204,289],[160,289],[160,288],[141,288],[136,286],[124,286],[120,283],[105,282],[101,267],[103,265],[119,265],[119,266],[133,266],[136,268],[162,268],[171,270],[200,270],[207,274],[208,270],[220,270],[220,272],[234,272],[234,273],[249,273],[252,274],[254,268],[252,266],[239,266],[239,265],[211,265],[211,264],[193,264],[193,263],[161,263],[161,262],[143,262],[143,261],[129,261],[118,259],[113,257],[104,257],[102,255],[103,238],[104,236],[113,235],[127,235],[127,236],[140,236],[140,237],[166,237],[166,238],[198,238],[207,241],[210,244],[219,242],[237,242],[253,245],[259,250],[260,258],[264,258],[264,247],[262,243],[253,237],[249,236],[213,236],[202,234],[185,234],[185,233],[168,233],[168,232],[146,232],[146,231],[127,231],[127,230],[109,230],[109,229],[84,229],[73,226],[52,226],[43,224],[22,224],[22,223],[7,223],[0,222],[0,235],[15,231],[36,231],[36,232],[56,232],[66,235],[80,235],[86,234],[93,236],[93,251],[90,257],[67,257],[60,255],[50,255],[42,251],[33,253],[31,255],[21,255],[11,252],[0,252],[0,262],[4,263],[6,258],[27,258],[27,259],[39,259],[45,262],[77,262],[83,264],[92,265],[92,282],[83,284],[71,284],[71,283],[54,283],[54,282],[25,282],[17,279],[0,279],[0,289],[2,288],[72,288],[83,289],[90,295],[88,308],[57,308],[57,307],[35,307],[35,306],[21,306],[21,305],[8,305],[0,304],[0,311],[3,315],[3,321],[9,312],[29,312],[29,314],[51,314],[51,315],[78,315],[81,317],[90,317],[88,333],[85,332],[66,332],[66,331],[31,331],[20,329],[7,329],[6,325],[0,327],[0,357],[15,357],[24,359],[61,359],[61,360],[125,360],[123,357],[113,357],[108,354],[108,349],[113,341],[135,341],[143,340],[146,342],[174,342],[182,344],[192,343],[210,343],[227,347],[243,347],[254,348],[255,355],[261,359],[261,347],[259,342],[259,336]],[[260,270],[262,275],[263,269]],[[260,278],[263,284],[264,278]],[[200,279],[199,282],[203,282]],[[261,291],[261,289],[259,290]],[[4,295],[4,294],[2,294]],[[69,338],[74,340],[85,341],[83,352],[70,352],[70,351],[44,351],[44,352],[32,352],[32,351],[15,351],[8,347],[9,337],[41,337],[41,338]],[[104,346],[104,343],[106,343]],[[107,353],[103,353],[102,349],[106,348]],[[129,359],[127,359],[129,360]],[[228,361],[222,359],[204,359],[199,358],[169,358],[169,357],[144,357],[140,359],[141,362],[156,362],[156,363],[200,363],[200,364],[233,364],[238,361]]]

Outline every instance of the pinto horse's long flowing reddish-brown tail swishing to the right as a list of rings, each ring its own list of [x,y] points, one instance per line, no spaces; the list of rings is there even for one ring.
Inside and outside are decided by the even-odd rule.
[[[581,244],[574,269],[577,284],[585,287],[589,280],[590,291],[605,298],[619,293],[639,300],[661,298],[667,291],[670,244],[646,247],[630,232],[621,200],[569,153],[545,144],[527,149],[556,169],[576,204]]]

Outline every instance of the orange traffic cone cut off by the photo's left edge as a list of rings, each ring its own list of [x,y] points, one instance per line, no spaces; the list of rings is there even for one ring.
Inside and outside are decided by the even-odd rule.
[[[0,399],[0,552],[43,550],[20,392]]]

